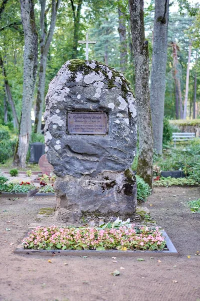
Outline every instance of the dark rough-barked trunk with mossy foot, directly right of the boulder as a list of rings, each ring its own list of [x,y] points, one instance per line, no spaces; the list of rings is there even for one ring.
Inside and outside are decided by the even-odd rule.
[[[143,0],[129,0],[134,51],[135,99],[139,134],[137,174],[152,186],[153,138],[148,86],[148,42],[144,35]]]

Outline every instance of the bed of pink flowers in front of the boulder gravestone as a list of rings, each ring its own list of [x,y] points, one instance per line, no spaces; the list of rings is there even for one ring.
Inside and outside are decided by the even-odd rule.
[[[22,240],[25,249],[74,250],[163,250],[164,237],[158,227],[135,227],[134,224],[118,228],[36,227]]]

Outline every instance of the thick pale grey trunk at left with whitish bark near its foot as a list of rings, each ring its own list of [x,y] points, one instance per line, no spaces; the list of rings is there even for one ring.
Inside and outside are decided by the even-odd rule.
[[[19,137],[13,165],[24,168],[31,134],[31,107],[37,62],[37,30],[34,18],[34,0],[20,0],[21,20],[24,31],[23,94]]]

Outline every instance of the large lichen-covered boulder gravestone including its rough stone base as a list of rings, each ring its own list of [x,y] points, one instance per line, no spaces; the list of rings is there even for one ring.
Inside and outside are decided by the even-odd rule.
[[[45,102],[45,152],[57,176],[58,215],[65,221],[74,212],[132,216],[136,111],[123,75],[97,61],[69,60]]]

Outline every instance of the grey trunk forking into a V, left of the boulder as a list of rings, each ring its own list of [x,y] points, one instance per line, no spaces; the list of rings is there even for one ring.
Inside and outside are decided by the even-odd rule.
[[[35,122],[34,131],[40,132],[41,128],[41,115],[44,101],[44,89],[45,89],[45,74],[46,74],[46,61],[49,46],[53,37],[53,32],[55,28],[56,14],[59,8],[60,0],[52,0],[51,3],[51,20],[50,27],[47,33],[47,23],[46,23],[46,12],[45,5],[46,0],[40,0],[40,64],[39,64],[39,78],[37,87],[37,98],[36,98],[36,108],[35,108]]]

